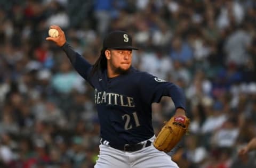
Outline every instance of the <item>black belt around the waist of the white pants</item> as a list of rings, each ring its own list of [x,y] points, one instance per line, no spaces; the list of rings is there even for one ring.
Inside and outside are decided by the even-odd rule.
[[[126,152],[135,152],[137,150],[140,150],[142,148],[148,147],[151,145],[151,141],[147,140],[147,141],[143,141],[143,142],[139,142],[138,144],[125,144],[125,145],[115,145],[115,144],[111,144],[111,143],[104,143],[108,142],[105,139],[101,138],[100,140],[100,144],[104,144],[104,145],[108,145],[112,148],[118,149],[118,150],[123,150]],[[146,143],[146,144],[145,144]]]

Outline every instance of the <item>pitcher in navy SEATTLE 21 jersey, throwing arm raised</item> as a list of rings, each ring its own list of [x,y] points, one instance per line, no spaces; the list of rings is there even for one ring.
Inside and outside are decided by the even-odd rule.
[[[66,42],[58,26],[58,36],[47,37],[67,54],[75,70],[95,90],[95,106],[100,122],[100,153],[94,167],[178,167],[166,152],[178,144],[188,129],[185,96],[174,83],[134,69],[132,37],[125,31],[110,32],[103,40],[98,60],[92,65]],[[170,96],[174,116],[155,137],[151,104]]]

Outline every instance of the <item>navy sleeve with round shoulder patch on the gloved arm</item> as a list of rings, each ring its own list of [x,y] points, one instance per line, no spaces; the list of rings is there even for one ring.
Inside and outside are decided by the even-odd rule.
[[[142,98],[148,104],[159,103],[163,96],[172,98],[175,108],[186,110],[186,98],[183,90],[174,83],[163,81],[148,73],[142,73],[140,78]]]

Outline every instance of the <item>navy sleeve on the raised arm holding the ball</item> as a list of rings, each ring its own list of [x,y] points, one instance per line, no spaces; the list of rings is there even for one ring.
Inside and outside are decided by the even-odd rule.
[[[65,43],[62,47],[63,51],[67,54],[70,62],[74,66],[75,70],[89,83],[89,73],[92,69],[92,64],[87,62],[84,57],[75,52],[73,47],[68,43]]]

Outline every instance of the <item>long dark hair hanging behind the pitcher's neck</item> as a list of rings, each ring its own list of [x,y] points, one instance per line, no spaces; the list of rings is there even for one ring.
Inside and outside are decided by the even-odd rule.
[[[101,49],[98,60],[92,66],[91,75],[93,75],[97,71],[103,71],[107,69],[107,58],[105,56],[105,51],[106,51],[106,48]]]

